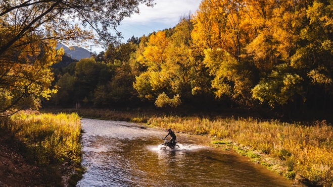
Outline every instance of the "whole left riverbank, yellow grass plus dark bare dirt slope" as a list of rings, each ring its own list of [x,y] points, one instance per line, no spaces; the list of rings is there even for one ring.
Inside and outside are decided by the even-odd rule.
[[[0,120],[0,186],[75,186],[80,117],[19,112]]]

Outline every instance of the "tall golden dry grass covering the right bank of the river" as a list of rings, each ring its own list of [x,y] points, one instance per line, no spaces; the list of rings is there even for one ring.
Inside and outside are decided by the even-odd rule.
[[[261,153],[256,161],[288,178],[307,178],[333,186],[333,127],[313,124],[258,121],[252,118],[152,117],[148,124],[178,132],[230,139]],[[267,157],[269,155],[269,157]]]

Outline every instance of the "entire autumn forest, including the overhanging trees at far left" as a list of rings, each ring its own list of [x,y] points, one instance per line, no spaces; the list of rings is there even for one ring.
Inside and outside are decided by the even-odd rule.
[[[118,10],[112,14],[97,4],[87,5],[91,12],[75,2],[53,3],[1,4],[1,115],[76,103],[280,116],[333,108],[330,1],[202,1],[175,27],[125,43],[108,31],[138,4],[153,6],[151,0],[109,2]],[[91,30],[73,25],[77,18]],[[91,40],[105,52],[76,61],[55,49]]]

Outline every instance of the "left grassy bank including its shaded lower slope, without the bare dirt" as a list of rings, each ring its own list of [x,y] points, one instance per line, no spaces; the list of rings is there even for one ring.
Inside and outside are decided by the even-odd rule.
[[[82,174],[81,124],[77,114],[19,112],[2,118],[0,128],[2,136],[18,146],[28,162],[50,172],[45,180],[49,180],[47,177],[61,179],[65,175],[63,179],[69,186],[75,186]],[[72,171],[75,172],[72,174]],[[61,176],[55,176],[57,174]],[[54,182],[54,185],[62,185],[61,181]]]

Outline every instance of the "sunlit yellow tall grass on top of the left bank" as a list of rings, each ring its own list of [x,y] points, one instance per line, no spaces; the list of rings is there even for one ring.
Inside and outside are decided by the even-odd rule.
[[[27,156],[40,165],[81,162],[80,117],[75,114],[19,112],[1,128],[23,142]]]

